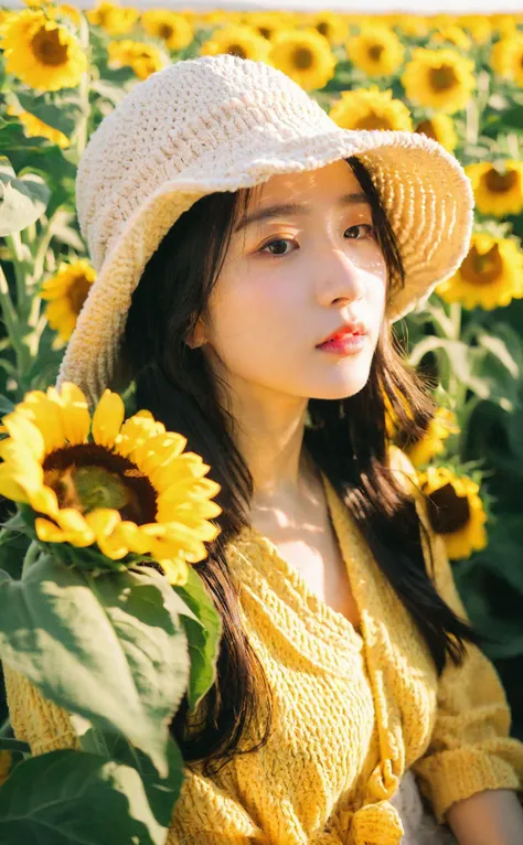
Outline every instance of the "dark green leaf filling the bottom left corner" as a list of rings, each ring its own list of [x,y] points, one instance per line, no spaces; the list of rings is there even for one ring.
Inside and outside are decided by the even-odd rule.
[[[19,763],[0,790],[2,845],[164,845],[137,770],[72,749]]]

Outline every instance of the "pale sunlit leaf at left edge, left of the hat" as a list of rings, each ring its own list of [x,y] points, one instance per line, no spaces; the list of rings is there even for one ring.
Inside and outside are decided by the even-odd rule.
[[[9,159],[0,157],[0,237],[35,223],[47,207],[51,191],[36,174],[17,179]]]

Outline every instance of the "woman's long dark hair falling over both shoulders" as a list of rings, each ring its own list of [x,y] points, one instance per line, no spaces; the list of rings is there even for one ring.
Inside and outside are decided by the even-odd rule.
[[[348,163],[371,203],[387,265],[388,290],[394,292],[405,279],[397,240],[366,168],[356,157]],[[217,677],[205,696],[200,723],[188,729],[184,699],[171,724],[185,762],[203,761],[207,774],[233,753],[259,748],[271,727],[270,689],[243,630],[226,557],[227,544],[247,524],[253,479],[235,445],[235,420],[218,399],[215,377],[202,350],[185,343],[205,313],[233,227],[245,214],[248,199],[249,190],[214,193],[181,215],[145,268],[125,333],[137,407],[148,408],[168,430],[183,434],[188,448],[211,466],[210,477],[222,488],[216,496],[222,531],[209,544],[209,557],[195,565],[223,621]],[[441,672],[447,660],[459,663],[465,641],[477,642],[477,637],[442,601],[428,576],[421,547],[424,526],[412,496],[399,488],[386,466],[384,395],[407,440],[418,439],[435,414],[435,405],[386,321],[366,385],[344,399],[310,399],[303,441],[346,503]],[[252,748],[241,749],[244,730],[254,724],[263,703],[267,708],[265,732]]]

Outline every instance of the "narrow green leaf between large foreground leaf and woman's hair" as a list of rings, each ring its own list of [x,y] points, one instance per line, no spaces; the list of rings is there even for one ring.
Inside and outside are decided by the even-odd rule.
[[[180,611],[191,656],[191,674],[186,695],[189,709],[193,712],[215,681],[223,625],[220,613],[214,607],[202,579],[192,567],[189,567],[186,584],[177,585],[173,590],[179,593],[196,617],[195,619]]]

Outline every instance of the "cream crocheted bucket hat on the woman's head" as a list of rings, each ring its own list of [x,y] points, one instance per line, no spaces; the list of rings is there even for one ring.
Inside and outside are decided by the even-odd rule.
[[[76,205],[97,279],[61,365],[96,404],[129,375],[121,340],[132,292],[161,239],[193,203],[275,173],[357,156],[397,237],[398,320],[449,278],[469,248],[473,194],[457,159],[424,135],[341,129],[280,71],[231,55],[177,62],[138,83],[89,138]]]

